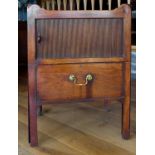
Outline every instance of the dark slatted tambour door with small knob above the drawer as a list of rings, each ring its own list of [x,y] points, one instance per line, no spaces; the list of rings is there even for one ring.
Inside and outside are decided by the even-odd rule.
[[[38,19],[37,58],[123,57],[123,19]]]

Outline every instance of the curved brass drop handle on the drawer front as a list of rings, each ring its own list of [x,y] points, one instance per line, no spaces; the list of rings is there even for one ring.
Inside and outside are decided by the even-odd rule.
[[[87,74],[85,78],[85,83],[77,83],[77,78],[74,74],[69,75],[69,81],[73,82],[77,86],[86,86],[89,81],[93,80],[93,76],[91,74]]]

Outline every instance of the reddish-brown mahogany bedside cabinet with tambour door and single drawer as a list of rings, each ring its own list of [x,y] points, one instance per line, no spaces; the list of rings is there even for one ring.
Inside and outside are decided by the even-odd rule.
[[[117,98],[122,136],[130,135],[131,10],[28,8],[29,142],[37,140],[44,104]]]

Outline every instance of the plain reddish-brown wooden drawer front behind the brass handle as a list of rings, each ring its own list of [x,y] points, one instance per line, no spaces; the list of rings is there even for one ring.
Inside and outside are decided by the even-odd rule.
[[[88,74],[92,79],[86,79]],[[69,80],[70,75],[76,81]],[[121,93],[121,63],[39,65],[37,68],[37,96],[41,101],[117,97]]]

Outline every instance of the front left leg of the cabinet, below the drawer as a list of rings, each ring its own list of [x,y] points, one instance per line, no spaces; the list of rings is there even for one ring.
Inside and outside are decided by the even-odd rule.
[[[37,135],[37,106],[35,103],[29,104],[29,142],[31,146],[38,145],[38,135]]]

